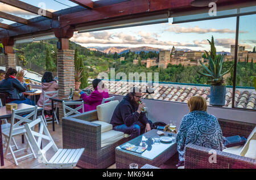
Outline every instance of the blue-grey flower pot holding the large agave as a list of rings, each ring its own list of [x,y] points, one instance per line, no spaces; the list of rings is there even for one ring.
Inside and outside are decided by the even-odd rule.
[[[210,105],[225,106],[226,86],[211,85],[210,86]]]

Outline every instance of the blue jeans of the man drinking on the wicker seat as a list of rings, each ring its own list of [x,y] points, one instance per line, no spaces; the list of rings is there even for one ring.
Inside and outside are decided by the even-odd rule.
[[[152,122],[149,121],[150,127],[152,128]],[[135,122],[131,126],[126,126],[125,124],[123,125],[117,125],[113,129],[115,131],[122,131],[125,134],[130,134],[131,139],[136,138],[139,135],[144,134],[145,132],[146,125],[143,125],[141,122]]]

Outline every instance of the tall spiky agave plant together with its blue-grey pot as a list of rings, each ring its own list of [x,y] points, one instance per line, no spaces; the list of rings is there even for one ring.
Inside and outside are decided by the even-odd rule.
[[[224,106],[225,105],[225,96],[226,96],[226,86],[224,85],[223,76],[228,74],[234,65],[232,65],[228,71],[221,73],[222,63],[224,59],[224,55],[217,55],[216,48],[214,46],[214,40],[212,36],[212,41],[209,41],[211,46],[210,55],[207,51],[207,57],[209,59],[209,68],[205,66],[201,61],[200,64],[205,68],[208,73],[199,72],[199,74],[203,76],[207,76],[209,78],[208,82],[210,83],[210,105],[213,106]]]

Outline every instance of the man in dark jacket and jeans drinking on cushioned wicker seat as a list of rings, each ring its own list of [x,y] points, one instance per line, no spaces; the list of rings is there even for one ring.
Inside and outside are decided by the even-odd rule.
[[[116,131],[130,134],[131,139],[151,130],[152,122],[142,112],[145,104],[141,102],[141,89],[134,87],[117,105],[110,123]]]

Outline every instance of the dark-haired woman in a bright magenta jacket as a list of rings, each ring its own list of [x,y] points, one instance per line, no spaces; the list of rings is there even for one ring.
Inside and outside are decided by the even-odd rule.
[[[105,88],[104,83],[100,79],[94,79],[92,85],[94,91],[89,96],[80,90],[81,98],[86,103],[84,104],[84,112],[96,109],[97,105],[101,104],[103,98],[109,97],[108,89]],[[80,112],[82,112],[81,109]]]

